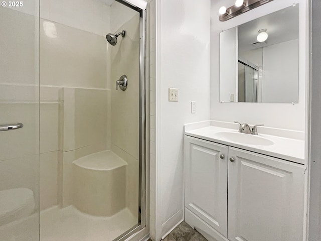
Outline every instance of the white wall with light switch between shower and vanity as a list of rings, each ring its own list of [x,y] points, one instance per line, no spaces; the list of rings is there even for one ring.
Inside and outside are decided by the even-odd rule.
[[[183,218],[183,125],[210,117],[210,0],[156,3],[158,241]],[[178,102],[168,101],[169,87],[179,88]]]

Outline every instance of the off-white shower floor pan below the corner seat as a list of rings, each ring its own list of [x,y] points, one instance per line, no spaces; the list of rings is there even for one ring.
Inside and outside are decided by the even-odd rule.
[[[110,217],[97,217],[73,206],[55,207],[40,213],[40,241],[112,241],[137,222],[127,208]]]

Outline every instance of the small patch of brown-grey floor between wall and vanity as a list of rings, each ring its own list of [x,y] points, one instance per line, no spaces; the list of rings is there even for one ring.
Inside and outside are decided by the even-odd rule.
[[[163,241],[207,241],[207,239],[183,221]]]

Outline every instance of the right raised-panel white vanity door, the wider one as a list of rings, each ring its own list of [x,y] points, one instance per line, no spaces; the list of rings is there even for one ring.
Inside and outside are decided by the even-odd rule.
[[[228,239],[301,241],[304,166],[229,147]]]

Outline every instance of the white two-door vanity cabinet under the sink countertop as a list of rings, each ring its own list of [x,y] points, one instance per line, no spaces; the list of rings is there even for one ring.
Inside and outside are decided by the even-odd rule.
[[[303,239],[304,165],[190,136],[184,165],[185,219],[206,237]]]

